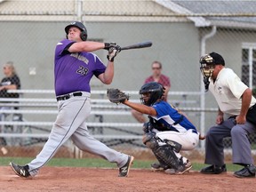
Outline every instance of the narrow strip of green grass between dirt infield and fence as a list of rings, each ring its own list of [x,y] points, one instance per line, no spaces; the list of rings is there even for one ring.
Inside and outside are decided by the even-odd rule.
[[[28,164],[33,158],[28,157],[0,157],[0,166],[8,166],[10,162],[15,164]],[[152,160],[136,160],[133,162],[132,168],[137,169],[150,169],[150,164]],[[192,162],[193,170],[199,171],[203,167],[207,166],[206,164]],[[68,166],[68,167],[109,167],[116,168],[116,164],[111,164],[108,161],[101,158],[83,158],[83,159],[74,159],[74,158],[52,158],[46,166]],[[228,172],[235,172],[242,167],[236,164],[227,164]]]

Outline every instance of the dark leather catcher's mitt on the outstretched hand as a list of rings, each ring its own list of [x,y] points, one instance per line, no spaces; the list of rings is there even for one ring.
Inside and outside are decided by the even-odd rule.
[[[107,90],[107,97],[108,97],[108,100],[110,100],[110,102],[113,102],[116,104],[123,103],[124,100],[129,100],[128,94],[125,94],[124,92],[114,88]]]

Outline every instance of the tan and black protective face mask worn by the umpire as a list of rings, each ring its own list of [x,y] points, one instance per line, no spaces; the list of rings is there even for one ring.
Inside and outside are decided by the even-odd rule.
[[[200,64],[201,64],[200,70],[202,75],[204,76],[205,92],[207,92],[210,84],[209,79],[212,77],[212,73],[215,68],[215,63],[212,56],[210,56],[209,54],[206,54],[203,57],[201,57]]]

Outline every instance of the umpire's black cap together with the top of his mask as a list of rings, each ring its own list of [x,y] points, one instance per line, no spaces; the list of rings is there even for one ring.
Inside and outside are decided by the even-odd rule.
[[[225,66],[225,60],[222,56],[217,52],[211,52],[209,54],[205,54],[200,59],[201,64],[206,65],[222,65]]]

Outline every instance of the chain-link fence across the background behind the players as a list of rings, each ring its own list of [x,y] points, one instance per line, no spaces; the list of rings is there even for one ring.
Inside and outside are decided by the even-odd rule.
[[[30,156],[47,140],[57,115],[54,49],[65,38],[64,28],[72,20],[85,24],[88,40],[121,46],[153,43],[150,48],[120,52],[111,85],[92,78],[92,115],[88,126],[96,138],[113,148],[144,149],[141,124],[132,117],[130,108],[109,103],[106,90],[119,88],[139,102],[140,86],[152,74],[154,60],[161,61],[162,73],[171,79],[169,102],[183,110],[204,134],[215,122],[217,105],[212,94],[204,92],[199,58],[206,52],[219,52],[227,67],[253,89],[255,7],[254,1],[0,1],[0,61],[2,65],[7,61],[14,63],[21,82],[19,103],[23,103],[18,112],[14,108],[9,113],[4,111],[6,121],[1,138],[5,148],[18,148],[13,156],[24,150]],[[95,53],[107,62],[106,51]],[[4,73],[0,77],[4,78]],[[31,133],[33,136],[29,136]],[[230,148],[230,140],[226,143]],[[252,136],[252,148],[254,143]],[[67,156],[73,156],[71,141],[67,148]],[[198,149],[204,151],[204,141]]]

